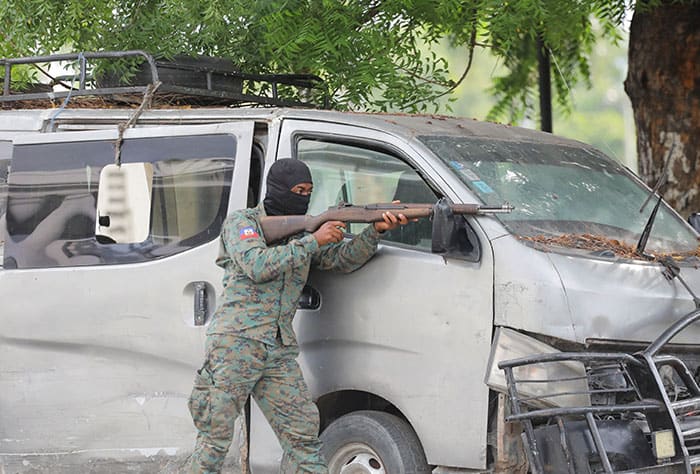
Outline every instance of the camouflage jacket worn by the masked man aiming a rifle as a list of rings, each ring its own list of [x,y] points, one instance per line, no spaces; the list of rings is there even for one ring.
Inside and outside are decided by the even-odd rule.
[[[224,292],[207,334],[236,333],[274,344],[279,328],[285,345],[296,345],[292,319],[311,265],[351,272],[377,250],[379,233],[368,226],[352,240],[319,247],[311,234],[267,246],[258,205],[230,215],[221,231],[216,264],[224,269]]]

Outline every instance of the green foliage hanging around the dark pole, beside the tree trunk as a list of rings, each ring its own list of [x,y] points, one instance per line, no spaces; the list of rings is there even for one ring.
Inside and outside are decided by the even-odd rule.
[[[537,40],[551,58],[552,79],[558,104],[568,110],[570,94],[580,81],[589,84],[589,56],[595,42],[592,19],[597,18],[607,37],[618,38],[617,26],[625,2],[525,0],[506,2],[490,22],[489,38],[508,74],[494,81],[498,101],[489,118],[509,116],[519,121],[535,107],[538,96]]]

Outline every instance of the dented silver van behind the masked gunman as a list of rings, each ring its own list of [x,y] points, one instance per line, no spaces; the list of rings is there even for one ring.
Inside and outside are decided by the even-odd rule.
[[[592,395],[600,378],[575,354],[634,354],[697,307],[698,234],[664,202],[650,222],[656,199],[640,208],[651,191],[580,142],[468,119],[298,108],[152,109],[120,133],[133,109],[13,107],[0,111],[4,472],[160,472],[187,457],[186,400],[221,290],[219,230],[259,202],[282,158],[311,168],[310,214],[443,197],[515,207],[451,219],[450,245],[437,251],[435,222],[421,220],[388,233],[352,274],[312,273],[295,329],[333,474],[537,472],[542,446],[566,445],[567,431],[540,436],[539,448],[523,431],[621,404],[615,387]],[[646,257],[625,253],[645,227]],[[671,342],[666,365],[690,378],[666,371],[658,397],[675,393],[697,411],[700,326]],[[536,375],[529,390],[515,390],[508,361],[540,354],[543,365],[515,371]],[[528,404],[553,379],[562,391]],[[633,379],[622,385],[644,383]],[[544,412],[513,418],[528,405]],[[546,412],[557,408],[570,411]],[[655,466],[685,456],[690,469],[700,454],[675,425],[657,440],[652,422],[601,413],[639,425],[630,445]],[[250,424],[253,472],[277,472],[281,449],[254,404]],[[653,454],[657,441],[673,455]],[[236,443],[232,465],[236,446],[247,450]],[[615,462],[630,453],[601,469],[628,469]]]

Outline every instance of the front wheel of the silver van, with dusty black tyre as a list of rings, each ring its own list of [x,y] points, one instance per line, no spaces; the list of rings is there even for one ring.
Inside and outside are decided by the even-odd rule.
[[[380,411],[342,416],[321,433],[330,474],[427,474],[431,468],[413,428]]]

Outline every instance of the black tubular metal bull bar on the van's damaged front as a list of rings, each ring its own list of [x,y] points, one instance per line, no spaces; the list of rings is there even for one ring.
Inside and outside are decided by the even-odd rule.
[[[532,472],[697,472],[700,388],[664,348],[698,319],[700,310],[689,313],[635,354],[559,352],[501,362],[506,421],[522,423]],[[581,375],[541,377],[556,373],[543,370],[547,364],[578,366]]]

